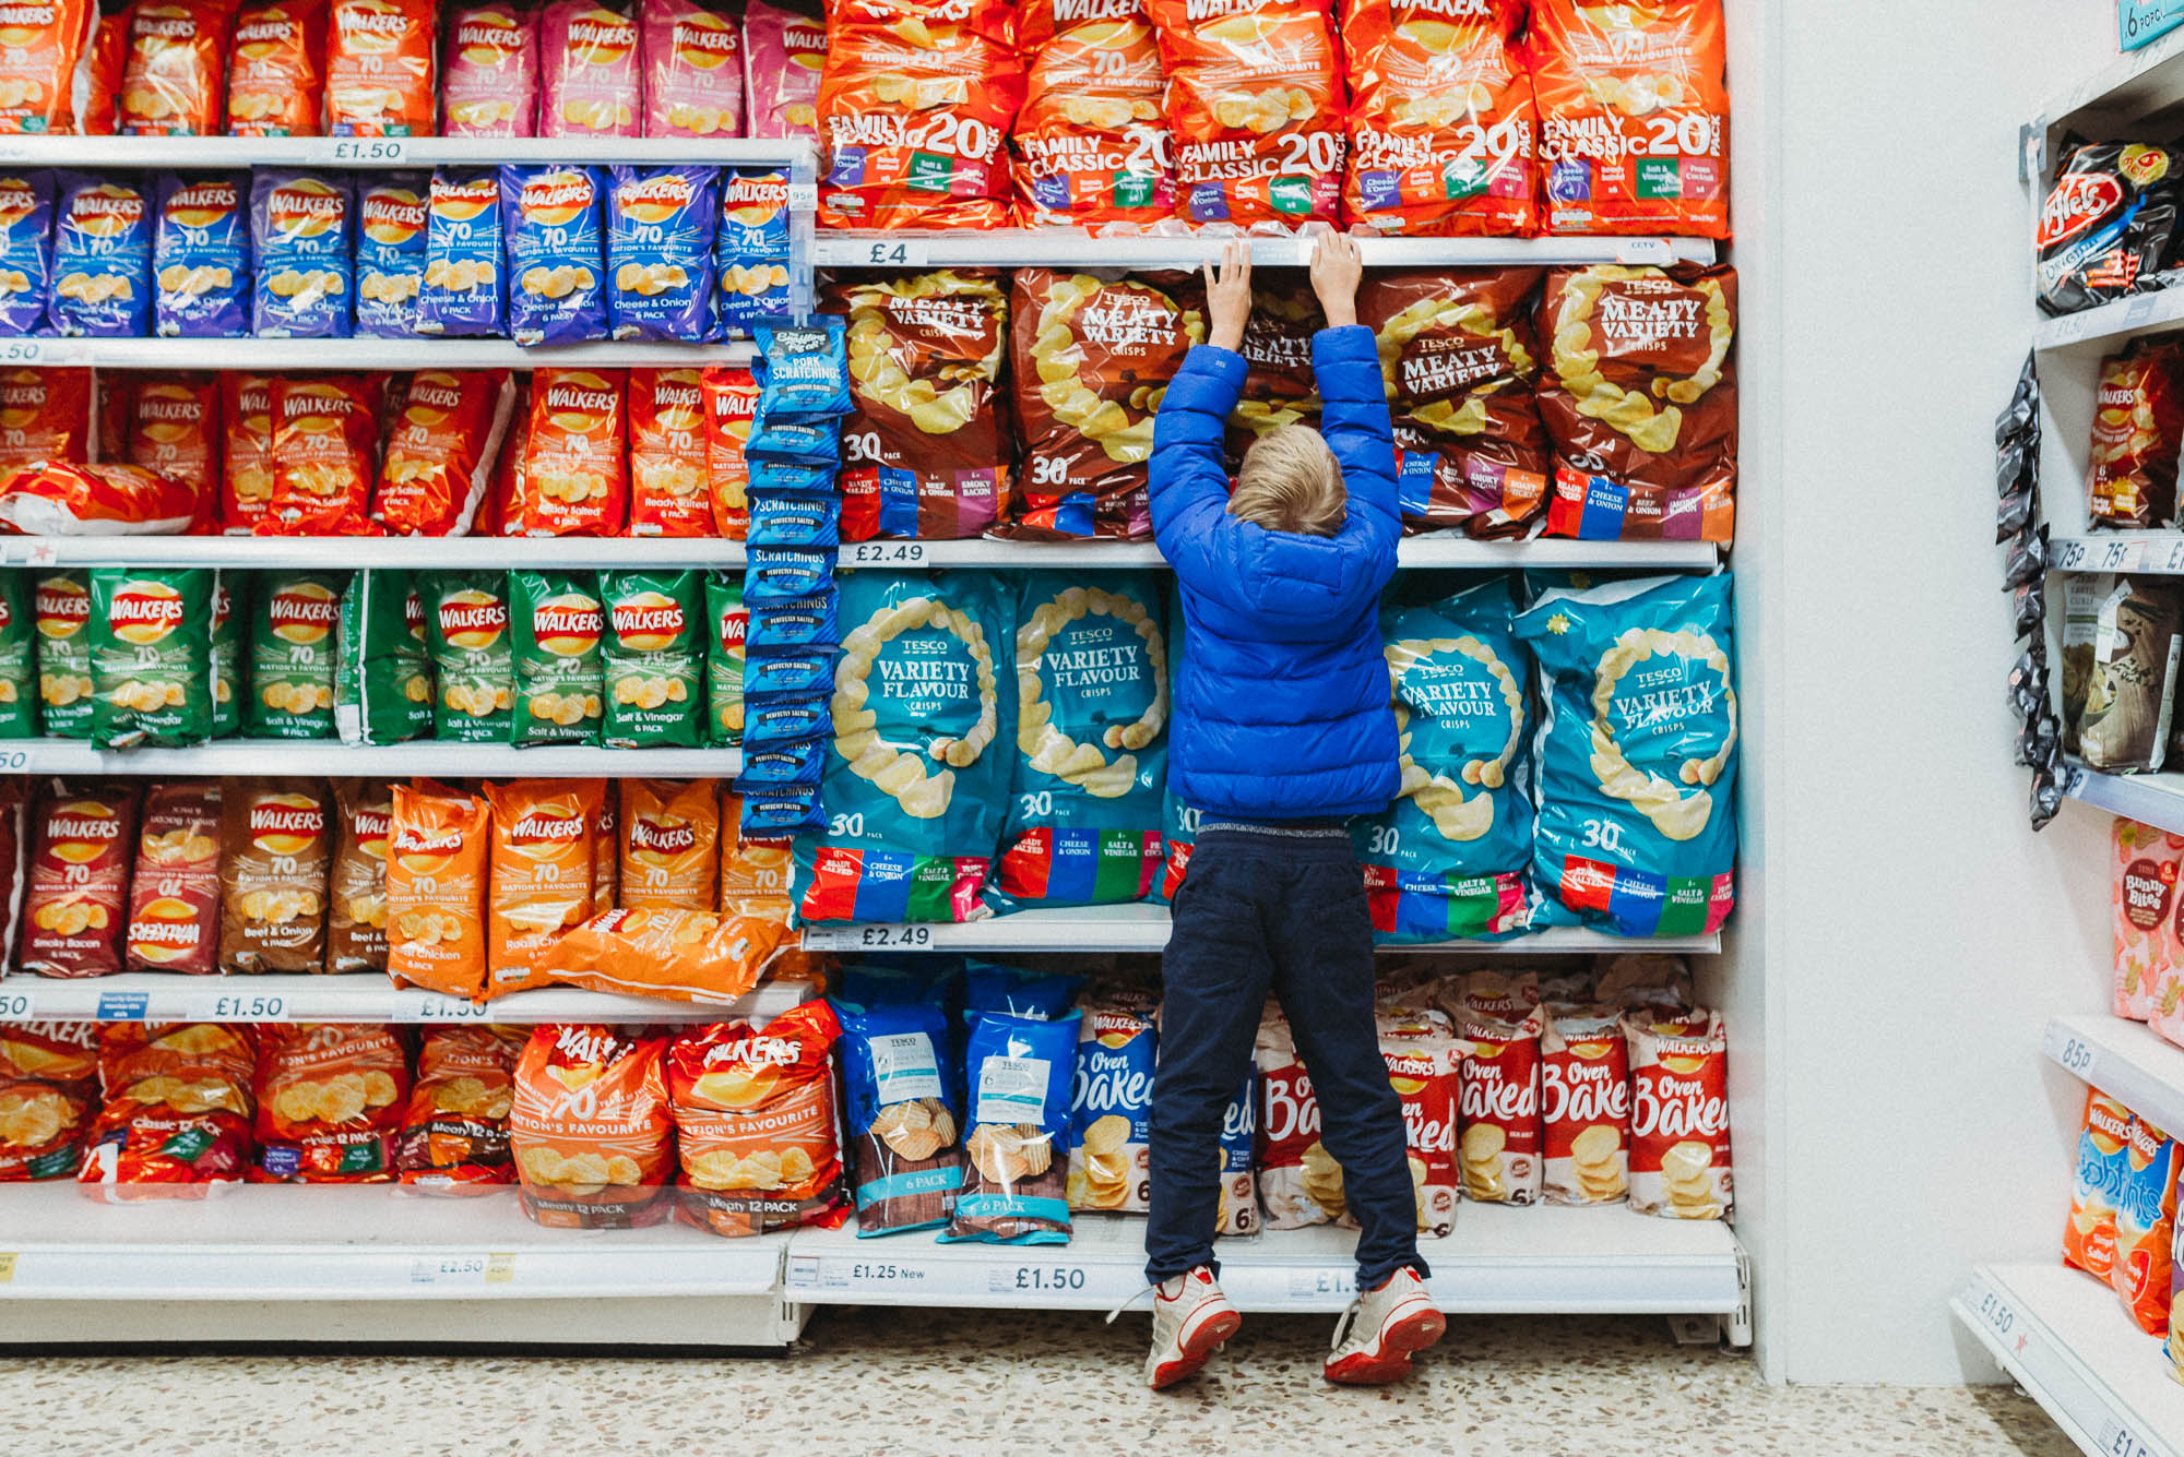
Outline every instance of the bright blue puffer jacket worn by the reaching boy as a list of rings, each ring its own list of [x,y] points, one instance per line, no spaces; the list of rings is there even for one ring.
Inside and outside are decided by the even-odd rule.
[[[1334,537],[1227,515],[1221,430],[1243,390],[1241,353],[1195,347],[1153,423],[1153,534],[1188,626],[1168,787],[1210,820],[1376,814],[1400,785],[1378,613],[1402,528],[1372,329],[1321,329],[1313,371],[1350,491]]]

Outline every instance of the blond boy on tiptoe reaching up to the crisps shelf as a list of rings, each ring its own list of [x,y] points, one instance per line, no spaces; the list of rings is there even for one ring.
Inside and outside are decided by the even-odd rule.
[[[1206,1365],[1241,1317],[1214,1276],[1221,1117],[1251,1062],[1271,990],[1319,1097],[1324,1143],[1356,1213],[1358,1300],[1334,1330],[1330,1381],[1374,1385],[1441,1337],[1417,1256],[1402,1104],[1374,1027],[1365,877],[1343,820],[1400,785],[1380,657],[1380,589],[1396,574],[1396,445],[1380,356],[1356,323],[1363,266],[1321,238],[1313,340],[1321,428],[1282,425],[1243,458],[1230,495],[1221,434],[1243,390],[1251,253],[1206,268],[1208,342],[1153,423],[1153,532],[1182,587],[1190,643],[1175,687],[1168,785],[1203,816],[1162,958],[1153,1080],[1153,1354],[1166,1387]]]

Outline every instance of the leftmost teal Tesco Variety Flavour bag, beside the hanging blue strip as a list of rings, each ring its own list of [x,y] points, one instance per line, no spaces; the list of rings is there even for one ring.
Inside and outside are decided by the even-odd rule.
[[[989,574],[856,571],[828,705],[828,833],[797,835],[806,920],[976,920],[1000,842],[1016,624]]]

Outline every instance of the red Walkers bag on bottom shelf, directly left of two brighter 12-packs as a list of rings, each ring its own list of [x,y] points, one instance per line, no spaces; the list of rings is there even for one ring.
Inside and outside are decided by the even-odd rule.
[[[529,1027],[426,1027],[395,1143],[395,1171],[417,1193],[491,1193],[515,1182],[509,1110]]]

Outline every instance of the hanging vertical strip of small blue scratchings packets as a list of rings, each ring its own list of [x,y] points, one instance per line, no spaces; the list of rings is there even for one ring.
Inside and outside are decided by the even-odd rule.
[[[745,445],[747,556],[743,600],[712,613],[745,622],[745,840],[784,840],[826,827],[819,776],[828,696],[841,646],[834,556],[841,545],[841,419],[852,410],[841,318],[758,325],[758,414]]]

